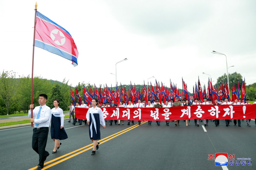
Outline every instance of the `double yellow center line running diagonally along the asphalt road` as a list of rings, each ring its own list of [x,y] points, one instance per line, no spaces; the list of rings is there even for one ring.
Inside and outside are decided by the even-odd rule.
[[[144,124],[144,123],[146,123],[146,122],[147,122],[147,121],[144,121],[144,122],[142,122],[141,124]],[[113,139],[113,138],[115,138],[115,137],[117,137],[117,136],[119,136],[119,135],[121,135],[121,134],[123,134],[123,133],[129,131],[129,130],[132,130],[132,129],[138,127],[138,126],[140,126],[140,125],[138,125],[138,124],[133,125],[133,126],[131,126],[131,127],[129,127],[129,128],[126,128],[126,129],[124,129],[124,130],[122,130],[122,131],[119,131],[119,132],[117,132],[117,133],[114,133],[113,135],[110,135],[110,136],[105,137],[105,138],[103,138],[103,139],[101,139],[101,140],[98,140],[98,141],[101,142],[101,144],[102,144],[102,143],[104,143],[104,142],[106,142],[106,141],[109,141],[110,139]],[[118,134],[118,135],[117,135],[117,134]],[[115,136],[114,136],[114,135],[115,135]],[[109,139],[108,139],[108,138],[109,138]],[[106,140],[105,140],[105,139],[106,139]],[[91,146],[91,147],[90,147],[90,146]],[[87,147],[89,147],[89,148],[87,148]],[[87,148],[87,149],[85,149],[85,148]],[[86,145],[85,147],[82,147],[82,148],[80,148],[80,149],[74,150],[74,151],[72,151],[72,152],[70,152],[70,153],[67,153],[67,154],[65,154],[65,155],[62,155],[62,156],[60,156],[60,157],[57,157],[57,158],[55,158],[55,159],[53,159],[53,160],[50,160],[50,161],[44,163],[44,165],[49,164],[49,163],[54,162],[54,161],[57,161],[57,160],[59,160],[59,159],[65,157],[65,156],[71,155],[71,154],[73,154],[73,153],[75,153],[75,152],[77,152],[77,151],[80,151],[80,150],[82,150],[82,149],[85,149],[85,150],[82,150],[82,151],[80,151],[80,152],[77,152],[77,153],[75,153],[75,154],[73,154],[73,155],[71,155],[71,156],[68,156],[68,157],[66,157],[66,158],[64,158],[64,159],[62,159],[62,160],[60,160],[60,161],[58,161],[58,162],[55,162],[55,163],[50,164],[50,165],[48,165],[48,166],[45,166],[43,169],[47,169],[47,168],[49,168],[49,167],[51,167],[51,166],[54,166],[54,165],[56,165],[56,164],[58,164],[58,163],[60,163],[60,162],[63,162],[63,161],[65,161],[65,160],[67,160],[67,159],[69,159],[69,158],[71,158],[71,157],[74,157],[74,156],[76,156],[76,155],[78,155],[78,154],[80,154],[80,153],[83,153],[83,152],[85,152],[85,151],[87,151],[87,150],[89,150],[89,149],[92,149],[92,148],[93,148],[93,143],[91,143],[91,144],[89,144],[89,145]],[[33,170],[33,169],[36,169],[36,168],[37,168],[37,166],[35,166],[35,167],[33,167],[33,168],[30,168],[30,169],[28,169],[28,170]]]

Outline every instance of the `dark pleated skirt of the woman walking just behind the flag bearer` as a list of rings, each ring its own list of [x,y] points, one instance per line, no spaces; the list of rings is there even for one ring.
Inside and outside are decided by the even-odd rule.
[[[51,115],[51,138],[64,140],[68,138],[68,135],[64,129],[60,129],[60,117],[55,117]]]

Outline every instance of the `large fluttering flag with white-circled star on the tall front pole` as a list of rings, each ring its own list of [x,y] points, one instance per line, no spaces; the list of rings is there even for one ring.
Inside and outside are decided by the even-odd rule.
[[[72,61],[77,66],[77,46],[70,33],[37,11],[35,46]]]

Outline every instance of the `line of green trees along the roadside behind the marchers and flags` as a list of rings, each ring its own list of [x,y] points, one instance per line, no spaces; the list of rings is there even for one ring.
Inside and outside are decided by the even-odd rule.
[[[226,74],[220,76],[217,79],[217,87],[219,86],[219,82],[226,78]],[[233,81],[237,88],[237,78],[241,88],[242,76],[241,74],[234,72],[229,74],[229,84],[231,89],[231,84],[233,85]],[[33,103],[34,106],[38,106],[38,96],[41,93],[45,93],[48,95],[48,100],[46,105],[50,108],[53,108],[53,100],[59,99],[60,107],[63,111],[68,110],[68,106],[70,105],[70,84],[69,81],[63,79],[62,82],[56,80],[47,80],[42,78],[41,76],[35,76],[33,79]],[[224,82],[223,82],[224,83]],[[83,99],[82,89],[85,86],[88,90],[91,86],[94,87],[93,84],[90,83],[78,83],[77,88],[81,98]],[[128,85],[124,85],[128,86]],[[138,85],[136,85],[138,86]],[[100,84],[102,88],[102,85]],[[142,86],[140,86],[142,87]],[[71,87],[72,88],[72,87]],[[115,88],[115,87],[113,87]],[[73,93],[75,94],[75,89],[72,88]],[[120,87],[119,87],[120,90]],[[182,89],[180,89],[182,90]],[[247,97],[250,101],[254,101],[256,97],[256,83],[246,85]],[[232,92],[230,91],[230,94]],[[190,93],[191,94],[191,93]],[[77,100],[78,101],[78,100]],[[20,76],[16,75],[16,72],[13,71],[5,71],[3,70],[0,73],[0,115],[8,115],[14,114],[16,112],[28,113],[29,105],[31,104],[31,78],[28,76]]]

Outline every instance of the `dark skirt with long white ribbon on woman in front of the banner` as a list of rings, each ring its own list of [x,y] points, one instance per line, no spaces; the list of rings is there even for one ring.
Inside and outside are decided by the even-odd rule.
[[[93,117],[95,119],[95,124],[96,124],[96,129],[94,128],[94,123],[92,120],[92,114],[90,114],[90,123],[89,123],[89,136],[90,139],[93,140],[100,140],[100,116],[98,113],[94,113]],[[92,132],[91,132],[91,124],[92,124]],[[91,133],[92,133],[92,138],[91,138]]]

